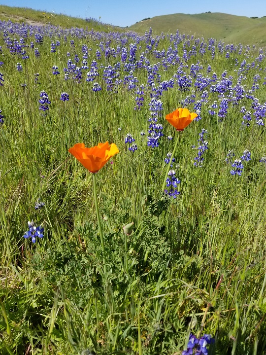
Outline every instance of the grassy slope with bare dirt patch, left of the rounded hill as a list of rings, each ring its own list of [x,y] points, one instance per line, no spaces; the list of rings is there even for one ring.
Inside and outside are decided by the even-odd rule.
[[[5,5],[0,5],[0,20],[7,21],[11,20],[13,22],[25,22],[31,25],[47,25],[51,24],[54,26],[62,26],[65,28],[79,27],[94,29],[96,31],[121,31],[119,27],[114,27],[108,24],[102,24],[96,19],[90,19],[90,21],[78,18],[66,16],[63,14],[55,14],[45,11],[37,11],[28,7],[10,7]]]

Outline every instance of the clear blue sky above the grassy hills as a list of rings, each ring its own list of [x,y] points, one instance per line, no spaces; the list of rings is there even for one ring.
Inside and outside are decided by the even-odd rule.
[[[266,0],[0,0],[1,5],[31,7],[74,17],[94,17],[104,23],[131,26],[146,17],[173,13],[224,12],[266,16]]]

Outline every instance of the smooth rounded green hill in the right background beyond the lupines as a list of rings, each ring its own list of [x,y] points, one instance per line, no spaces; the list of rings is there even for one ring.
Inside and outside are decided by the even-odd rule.
[[[144,32],[152,27],[155,33],[195,34],[223,39],[226,42],[266,44],[266,17],[252,19],[225,13],[172,14],[140,21],[129,29]]]

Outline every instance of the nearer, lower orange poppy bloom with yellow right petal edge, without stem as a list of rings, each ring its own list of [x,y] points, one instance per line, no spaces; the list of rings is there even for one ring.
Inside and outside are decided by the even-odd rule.
[[[77,143],[68,151],[91,173],[97,173],[113,155],[119,153],[116,144],[108,142],[99,143],[92,148],[86,148],[84,143]]]

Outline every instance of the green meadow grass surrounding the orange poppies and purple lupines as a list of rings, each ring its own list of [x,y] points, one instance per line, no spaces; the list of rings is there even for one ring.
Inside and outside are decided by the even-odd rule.
[[[128,38],[127,48],[135,41]],[[164,137],[158,148],[150,148],[150,87],[145,88],[139,111],[134,110],[135,91],[123,83],[108,92],[104,67],[113,67],[121,57],[105,59],[104,52],[97,60],[96,79],[102,91],[92,91],[87,71],[80,83],[65,80],[66,52],[72,61],[78,54],[81,62],[86,43],[92,48],[90,66],[101,39],[68,36],[65,42],[61,37],[57,52],[51,53],[51,41],[57,39],[44,36],[43,44],[35,44],[40,52],[35,58],[30,47],[34,35],[29,36],[30,59],[22,60],[10,54],[0,35],[4,62],[0,72],[5,80],[0,86],[4,115],[0,126],[0,354],[88,355],[90,349],[96,354],[180,355],[190,331],[215,338],[209,354],[264,354],[266,169],[259,159],[266,155],[266,133],[254,117],[250,127],[242,127],[240,106],[249,109],[251,100],[230,104],[221,122],[217,114],[208,113],[208,106],[214,100],[219,104],[221,98],[209,94],[202,119],[181,134],[175,153],[179,167],[174,165],[181,194],[169,200],[161,192],[164,159],[179,133],[165,115],[181,107],[192,89],[182,92],[175,85],[164,91],[159,118]],[[118,44],[123,46],[111,39],[111,48]],[[137,59],[145,50],[145,40],[139,45]],[[170,45],[167,38],[160,39],[156,49],[167,51]],[[182,42],[177,49],[182,58]],[[258,48],[246,53],[244,49],[230,59],[225,52],[216,48],[214,60],[210,51],[204,56],[198,53],[183,71],[189,75],[191,64],[199,60],[204,76],[210,64],[210,76],[215,71],[220,78],[227,69],[235,85],[234,70],[244,59],[247,64],[256,61],[262,70],[266,67],[265,58],[261,63],[255,59]],[[153,51],[145,56],[151,66],[159,62]],[[22,72],[16,70],[17,62],[22,63]],[[54,65],[61,72],[58,76],[52,74]],[[121,67],[123,80],[129,73]],[[178,68],[169,64],[165,71],[161,66],[162,80],[170,79]],[[260,73],[260,88],[254,95],[263,104],[265,74],[259,68],[251,66],[243,72],[243,84],[248,91],[254,75]],[[136,69],[133,76],[138,85],[146,85],[146,70]],[[46,116],[39,111],[41,90],[51,101]],[[60,101],[63,91],[69,94],[68,102]],[[197,91],[196,101],[200,97]],[[193,111],[194,104],[188,108]],[[198,145],[202,128],[207,129],[209,148],[202,168],[196,168],[198,151],[191,146]],[[134,153],[124,142],[129,132],[138,146]],[[172,141],[167,140],[169,135]],[[68,148],[77,142],[94,146],[106,140],[116,143],[120,152],[96,176],[106,249],[104,273],[92,176]],[[232,167],[225,162],[229,149],[235,157],[244,149],[252,152],[241,177],[230,174]],[[38,199],[45,207],[36,211]],[[44,238],[37,238],[35,244],[23,238],[32,219],[44,227]],[[123,226],[130,222],[134,232],[125,241]]]

